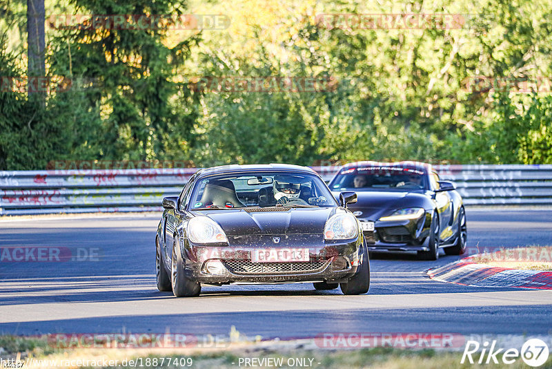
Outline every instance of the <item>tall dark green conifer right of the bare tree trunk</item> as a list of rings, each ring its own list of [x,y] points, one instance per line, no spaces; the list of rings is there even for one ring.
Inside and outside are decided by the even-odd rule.
[[[72,5],[96,15],[180,15],[185,9],[183,1],[170,0],[124,4],[72,0]],[[101,82],[99,95],[90,96],[90,106],[101,105],[103,132],[97,140],[102,142],[102,158],[163,158],[166,133],[176,130],[186,137],[193,126],[194,113],[181,110],[183,101],[171,103],[181,92],[171,79],[196,39],[168,48],[161,41],[170,26],[172,23],[159,28],[81,28],[61,32],[52,41],[54,73],[83,75]]]

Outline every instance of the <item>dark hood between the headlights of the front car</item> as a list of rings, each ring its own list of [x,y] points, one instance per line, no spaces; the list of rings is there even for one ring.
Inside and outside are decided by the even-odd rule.
[[[323,234],[335,207],[290,208],[285,211],[243,209],[195,211],[215,220],[228,236],[273,234]]]

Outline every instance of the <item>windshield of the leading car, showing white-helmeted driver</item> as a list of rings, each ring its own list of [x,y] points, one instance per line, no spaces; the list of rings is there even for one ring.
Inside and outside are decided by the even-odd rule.
[[[326,184],[306,173],[244,173],[197,180],[188,209],[337,207]]]

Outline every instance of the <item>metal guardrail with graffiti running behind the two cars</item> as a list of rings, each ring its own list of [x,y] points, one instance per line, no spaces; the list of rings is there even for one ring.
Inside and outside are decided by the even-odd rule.
[[[339,167],[313,167],[330,180]],[[437,165],[466,205],[552,205],[552,164]],[[197,169],[0,171],[0,215],[160,211]]]

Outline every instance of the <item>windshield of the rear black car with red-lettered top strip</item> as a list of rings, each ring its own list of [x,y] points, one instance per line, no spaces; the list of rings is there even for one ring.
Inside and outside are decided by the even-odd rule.
[[[404,167],[357,167],[342,169],[330,185],[332,191],[344,189],[412,191],[428,189],[423,171]]]

